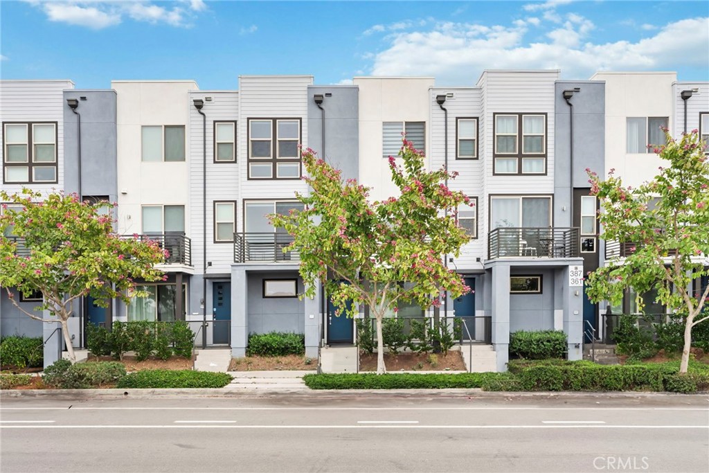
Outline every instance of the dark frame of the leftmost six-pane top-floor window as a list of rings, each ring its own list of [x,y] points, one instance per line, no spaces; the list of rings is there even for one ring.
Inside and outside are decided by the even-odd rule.
[[[3,133],[3,182],[4,184],[57,184],[59,182],[59,126],[56,121],[5,121],[2,124]],[[23,141],[8,141],[8,126],[24,126],[23,135],[26,140]],[[35,139],[35,128],[38,126],[52,126],[54,133],[52,141],[38,141]],[[8,150],[14,146],[25,147],[25,157],[22,161],[10,161]],[[36,158],[40,154],[37,152],[38,146],[53,146],[52,160],[38,161]],[[25,168],[27,170],[26,180],[9,179],[9,170]],[[36,171],[38,169],[52,169],[54,179],[36,179]]]

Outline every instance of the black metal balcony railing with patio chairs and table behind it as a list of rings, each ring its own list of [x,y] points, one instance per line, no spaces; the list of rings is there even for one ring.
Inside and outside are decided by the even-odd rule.
[[[488,235],[488,258],[579,257],[578,228],[496,228]]]

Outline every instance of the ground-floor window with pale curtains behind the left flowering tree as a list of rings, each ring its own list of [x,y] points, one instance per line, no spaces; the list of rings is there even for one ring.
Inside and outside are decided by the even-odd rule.
[[[133,297],[126,307],[128,322],[133,321],[184,321],[187,307],[187,285],[182,284],[182,314],[177,312],[177,284],[142,284],[139,291],[145,297]]]

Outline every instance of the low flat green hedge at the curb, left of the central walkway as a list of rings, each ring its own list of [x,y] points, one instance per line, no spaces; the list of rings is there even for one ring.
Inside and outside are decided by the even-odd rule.
[[[118,381],[118,388],[222,388],[232,380],[230,374],[189,369],[171,371],[148,369],[130,373]]]

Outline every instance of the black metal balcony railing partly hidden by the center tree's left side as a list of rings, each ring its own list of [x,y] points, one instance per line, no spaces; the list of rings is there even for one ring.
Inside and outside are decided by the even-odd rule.
[[[292,242],[287,233],[234,233],[234,262],[298,262],[298,252],[283,251]]]

